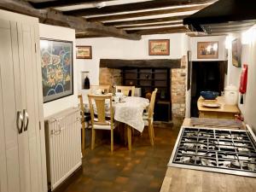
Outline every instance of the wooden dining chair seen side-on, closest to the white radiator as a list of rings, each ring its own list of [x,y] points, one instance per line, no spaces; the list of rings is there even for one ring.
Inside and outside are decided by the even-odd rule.
[[[85,122],[90,121],[90,116],[86,114],[84,111],[83,96],[79,95],[78,98],[79,98],[79,107],[80,107],[81,125],[82,125],[82,154],[84,156],[85,154]]]

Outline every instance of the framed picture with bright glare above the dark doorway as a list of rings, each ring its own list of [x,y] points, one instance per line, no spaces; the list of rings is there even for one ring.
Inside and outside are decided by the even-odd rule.
[[[197,59],[218,59],[218,41],[197,42]]]

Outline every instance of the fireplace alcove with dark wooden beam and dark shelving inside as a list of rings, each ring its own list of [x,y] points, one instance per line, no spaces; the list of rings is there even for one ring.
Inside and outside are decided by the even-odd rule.
[[[111,85],[134,85],[141,88],[142,96],[154,88],[158,89],[154,107],[154,120],[172,119],[172,68],[180,68],[181,60],[110,60],[101,59],[101,68],[119,70],[119,82],[108,81]],[[113,75],[113,74],[112,74]],[[117,75],[116,73],[114,75]],[[101,80],[100,80],[101,83]]]

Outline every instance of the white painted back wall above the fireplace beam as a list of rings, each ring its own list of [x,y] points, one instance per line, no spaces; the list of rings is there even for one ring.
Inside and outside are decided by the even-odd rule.
[[[170,39],[170,55],[148,55],[148,39]],[[90,72],[90,84],[99,83],[100,59],[180,59],[186,55],[186,35],[166,34],[143,36],[139,41],[121,38],[80,38],[77,45],[91,45],[92,59],[77,60],[78,87],[81,89],[81,72]]]

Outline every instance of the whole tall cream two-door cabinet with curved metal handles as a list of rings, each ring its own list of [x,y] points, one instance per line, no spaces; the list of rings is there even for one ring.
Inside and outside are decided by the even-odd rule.
[[[38,19],[0,18],[0,192],[45,192]]]

